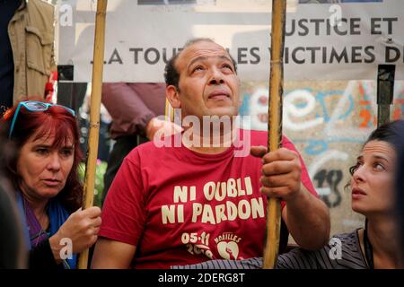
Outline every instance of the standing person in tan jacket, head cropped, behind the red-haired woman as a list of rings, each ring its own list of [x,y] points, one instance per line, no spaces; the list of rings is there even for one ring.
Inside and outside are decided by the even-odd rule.
[[[0,116],[27,95],[45,99],[54,62],[54,7],[0,0]]]

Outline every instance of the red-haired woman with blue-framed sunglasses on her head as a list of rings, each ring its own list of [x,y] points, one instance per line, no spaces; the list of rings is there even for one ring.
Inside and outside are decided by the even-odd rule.
[[[81,210],[81,160],[75,112],[22,101],[2,119],[17,150],[7,162],[30,248],[30,268],[75,268],[76,255],[97,239],[101,210]]]

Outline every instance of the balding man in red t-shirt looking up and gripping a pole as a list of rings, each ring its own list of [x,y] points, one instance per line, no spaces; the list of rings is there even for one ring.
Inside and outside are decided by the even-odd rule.
[[[237,116],[240,106],[227,51],[211,39],[194,39],[171,58],[165,78],[184,132],[155,137],[127,155],[103,206],[92,267],[259,257],[267,196],[283,199],[283,221],[302,248],[322,248],[329,211],[293,143],[283,137],[283,148],[268,153],[267,133],[237,130],[232,120],[225,128],[222,119]]]

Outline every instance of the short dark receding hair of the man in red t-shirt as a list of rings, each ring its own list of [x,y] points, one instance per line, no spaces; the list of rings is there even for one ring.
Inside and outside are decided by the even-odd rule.
[[[179,83],[180,83],[180,73],[178,73],[176,67],[175,67],[175,62],[177,61],[177,58],[180,57],[180,53],[185,49],[188,48],[189,46],[198,43],[198,42],[211,42],[215,43],[213,39],[210,38],[195,38],[195,39],[189,39],[185,45],[179,50],[178,53],[172,55],[170,60],[167,62],[165,65],[164,69],[164,79],[165,79],[165,84],[167,86],[173,85],[174,87],[177,88],[177,90],[180,90]],[[237,63],[230,55],[230,58],[232,59],[233,65],[234,65],[234,72],[237,74]]]

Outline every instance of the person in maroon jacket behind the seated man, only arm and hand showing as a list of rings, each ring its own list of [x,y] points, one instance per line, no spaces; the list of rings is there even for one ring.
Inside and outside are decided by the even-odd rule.
[[[160,128],[173,132],[180,127],[158,116],[165,111],[164,83],[103,83],[102,104],[110,113],[110,137],[115,141],[104,175],[102,203],[127,153],[154,139]]]

